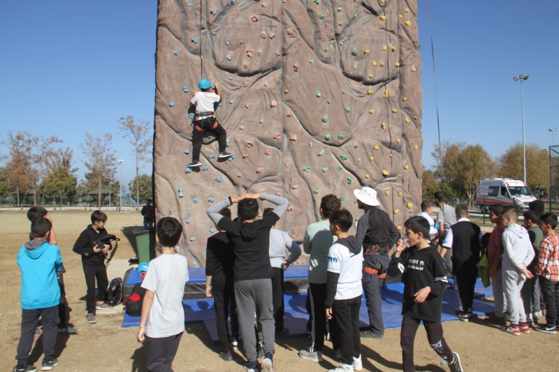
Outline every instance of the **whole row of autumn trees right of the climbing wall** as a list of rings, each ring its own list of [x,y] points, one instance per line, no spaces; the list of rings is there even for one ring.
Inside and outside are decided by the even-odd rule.
[[[549,151],[538,144],[526,144],[526,183],[533,193],[557,186],[550,185]],[[449,198],[465,200],[472,206],[479,181],[502,177],[523,180],[522,144],[516,143],[497,158],[491,158],[479,144],[444,142],[431,153],[433,169],[423,169],[423,198],[433,198],[436,191],[445,191]]]

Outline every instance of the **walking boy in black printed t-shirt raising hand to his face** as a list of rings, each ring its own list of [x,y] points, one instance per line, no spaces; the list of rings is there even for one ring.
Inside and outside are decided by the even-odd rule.
[[[448,285],[447,275],[437,246],[431,246],[429,222],[422,216],[414,216],[404,223],[409,248],[402,239],[396,243],[396,251],[389,266],[389,275],[402,273],[404,302],[402,304],[402,329],[400,345],[405,372],[415,371],[414,338],[423,321],[431,348],[449,362],[451,371],[462,371],[460,357],[444,341],[441,312],[442,293]]]

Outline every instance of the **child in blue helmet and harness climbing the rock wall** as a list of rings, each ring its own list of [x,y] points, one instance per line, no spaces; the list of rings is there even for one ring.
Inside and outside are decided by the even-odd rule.
[[[200,149],[202,148],[204,135],[208,132],[214,133],[217,137],[217,143],[219,144],[218,158],[226,159],[233,156],[233,154],[225,151],[227,133],[215,116],[215,108],[222,101],[222,89],[219,87],[219,82],[215,82],[214,86],[215,93],[212,93],[210,92],[212,87],[210,80],[200,80],[198,87],[202,91],[196,92],[190,101],[190,108],[195,110],[195,113],[194,121],[192,122],[192,161],[187,165],[189,168],[201,167]]]

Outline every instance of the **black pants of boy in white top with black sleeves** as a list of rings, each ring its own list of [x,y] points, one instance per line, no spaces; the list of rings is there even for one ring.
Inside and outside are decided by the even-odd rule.
[[[342,363],[351,365],[354,357],[361,355],[361,336],[359,335],[359,308],[361,295],[352,299],[335,299],[332,312],[335,316]]]

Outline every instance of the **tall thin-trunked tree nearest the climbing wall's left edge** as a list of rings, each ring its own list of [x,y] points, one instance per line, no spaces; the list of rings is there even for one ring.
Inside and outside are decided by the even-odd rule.
[[[133,154],[136,156],[136,178],[140,177],[140,164],[150,161],[150,154],[153,153],[153,141],[148,138],[150,121],[140,120],[136,124],[133,116],[121,117],[118,120],[120,124],[120,132],[124,133],[124,137],[133,146]],[[140,184],[136,183],[136,200],[140,200]],[[138,204],[136,204],[136,211]]]

